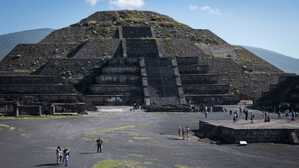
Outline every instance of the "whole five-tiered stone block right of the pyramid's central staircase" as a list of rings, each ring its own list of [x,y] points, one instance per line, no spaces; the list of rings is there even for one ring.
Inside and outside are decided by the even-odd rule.
[[[176,60],[188,104],[239,103],[239,96],[228,94],[230,86],[217,84],[219,75],[208,73],[208,65],[200,64],[198,57],[176,57]]]

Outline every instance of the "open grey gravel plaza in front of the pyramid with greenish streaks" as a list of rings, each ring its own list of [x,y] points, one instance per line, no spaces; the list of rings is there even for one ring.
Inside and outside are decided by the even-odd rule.
[[[130,113],[122,108],[102,108],[100,115],[87,117],[1,118],[0,167],[62,167],[55,165],[58,145],[70,149],[69,167],[93,167],[102,160],[141,167],[299,167],[296,145],[239,147],[177,137],[179,126],[195,130],[199,120],[233,120],[229,113],[209,113],[205,119],[202,113]],[[255,111],[255,118],[262,115]],[[96,153],[99,137],[104,139],[103,153]]]

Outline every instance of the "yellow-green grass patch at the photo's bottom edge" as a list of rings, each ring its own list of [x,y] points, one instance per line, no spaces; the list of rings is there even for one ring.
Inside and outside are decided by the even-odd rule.
[[[142,168],[140,166],[141,162],[132,162],[132,161],[120,161],[120,160],[102,160],[96,165],[93,165],[92,168],[113,168],[113,167],[132,167],[132,168]]]

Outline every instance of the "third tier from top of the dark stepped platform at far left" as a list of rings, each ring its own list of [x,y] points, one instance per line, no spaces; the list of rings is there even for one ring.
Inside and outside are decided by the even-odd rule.
[[[21,102],[51,102],[73,103],[78,102],[77,94],[0,94],[1,101]]]

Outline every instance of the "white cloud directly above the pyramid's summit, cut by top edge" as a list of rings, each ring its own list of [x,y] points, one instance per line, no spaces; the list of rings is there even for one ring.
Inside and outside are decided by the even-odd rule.
[[[145,5],[143,0],[110,0],[109,3],[120,9],[141,8]]]

